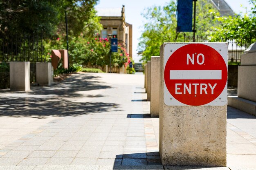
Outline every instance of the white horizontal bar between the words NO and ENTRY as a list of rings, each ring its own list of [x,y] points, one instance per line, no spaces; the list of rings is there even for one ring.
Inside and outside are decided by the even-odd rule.
[[[170,79],[221,79],[221,70],[170,70]]]

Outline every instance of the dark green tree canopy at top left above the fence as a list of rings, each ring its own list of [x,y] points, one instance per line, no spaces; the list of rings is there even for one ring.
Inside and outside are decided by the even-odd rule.
[[[70,33],[77,36],[95,15],[97,1],[0,0],[0,35],[43,32],[44,37],[50,37],[57,28],[65,31],[65,10],[70,7]]]

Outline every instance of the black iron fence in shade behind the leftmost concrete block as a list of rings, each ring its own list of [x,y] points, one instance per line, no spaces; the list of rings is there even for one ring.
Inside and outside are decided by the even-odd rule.
[[[0,38],[0,62],[45,62],[43,33]]]

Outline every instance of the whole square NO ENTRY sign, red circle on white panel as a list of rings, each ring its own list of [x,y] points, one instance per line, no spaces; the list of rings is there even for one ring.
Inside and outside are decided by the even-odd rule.
[[[164,46],[164,103],[168,106],[227,104],[227,43]]]

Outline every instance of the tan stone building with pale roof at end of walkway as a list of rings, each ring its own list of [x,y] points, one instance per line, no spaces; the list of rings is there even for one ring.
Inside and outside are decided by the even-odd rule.
[[[96,8],[96,10],[103,26],[101,38],[109,38],[108,34],[112,34],[112,38],[117,38],[132,58],[132,24],[125,21],[124,5],[122,8]]]

